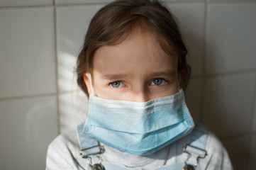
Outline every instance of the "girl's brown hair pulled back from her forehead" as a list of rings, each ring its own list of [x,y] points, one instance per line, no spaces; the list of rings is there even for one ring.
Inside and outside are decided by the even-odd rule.
[[[178,72],[185,72],[186,75],[182,76],[182,87],[187,85],[190,75],[190,67],[186,62],[187,48],[172,13],[158,1],[121,0],[104,6],[91,19],[77,58],[77,84],[87,96],[84,73],[92,73],[96,50],[103,45],[122,42],[138,27],[157,36],[162,50],[167,54],[179,57]]]

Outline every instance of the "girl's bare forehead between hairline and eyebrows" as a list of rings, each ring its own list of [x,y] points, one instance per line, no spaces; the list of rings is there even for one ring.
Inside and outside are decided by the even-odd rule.
[[[148,32],[133,33],[117,45],[104,45],[94,55],[98,72],[145,72],[176,65],[177,56],[168,55],[155,35]]]

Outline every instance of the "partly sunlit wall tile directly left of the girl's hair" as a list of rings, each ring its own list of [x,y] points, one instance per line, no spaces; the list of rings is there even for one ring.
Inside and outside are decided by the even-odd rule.
[[[78,89],[75,64],[89,22],[101,6],[57,8],[58,81],[60,92]]]

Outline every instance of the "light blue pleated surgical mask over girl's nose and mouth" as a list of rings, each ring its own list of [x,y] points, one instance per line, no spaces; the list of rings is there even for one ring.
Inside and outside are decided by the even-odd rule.
[[[179,140],[194,128],[184,93],[147,102],[89,96],[84,133],[110,147],[146,155]]]

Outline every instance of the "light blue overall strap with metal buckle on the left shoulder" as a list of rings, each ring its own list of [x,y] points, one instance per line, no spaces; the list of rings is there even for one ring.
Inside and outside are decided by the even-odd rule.
[[[102,154],[104,147],[100,143],[88,135],[83,133],[84,123],[77,127],[77,134],[79,137],[80,152],[79,155],[83,158],[87,158],[90,155]]]

